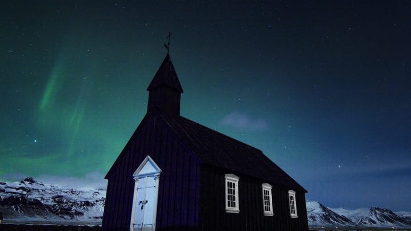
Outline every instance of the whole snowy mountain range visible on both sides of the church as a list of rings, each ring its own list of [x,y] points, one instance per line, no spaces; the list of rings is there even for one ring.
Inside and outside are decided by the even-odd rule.
[[[106,190],[66,189],[33,178],[0,181],[0,212],[5,220],[24,222],[101,223]],[[370,207],[354,210],[306,202],[310,227],[407,227],[411,213]]]

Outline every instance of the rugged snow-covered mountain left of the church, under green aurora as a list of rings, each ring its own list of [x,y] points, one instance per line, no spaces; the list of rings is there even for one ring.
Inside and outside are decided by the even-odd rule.
[[[26,178],[0,182],[0,211],[5,220],[101,222],[106,190],[76,190]]]

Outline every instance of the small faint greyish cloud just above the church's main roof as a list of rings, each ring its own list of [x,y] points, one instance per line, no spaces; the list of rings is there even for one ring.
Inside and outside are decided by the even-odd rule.
[[[233,111],[226,115],[221,123],[227,126],[231,126],[244,130],[265,130],[267,128],[267,122],[262,119],[253,119],[248,117],[245,113]]]

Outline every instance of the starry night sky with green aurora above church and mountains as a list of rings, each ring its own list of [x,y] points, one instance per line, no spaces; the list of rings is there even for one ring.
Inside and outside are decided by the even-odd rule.
[[[0,180],[105,187],[172,31],[181,115],[261,149],[307,200],[411,210],[410,12],[0,1]]]

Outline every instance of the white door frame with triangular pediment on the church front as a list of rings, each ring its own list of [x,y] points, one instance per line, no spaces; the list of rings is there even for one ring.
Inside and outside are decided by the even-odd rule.
[[[150,166],[148,166],[147,164],[149,164]],[[146,167],[146,165],[147,165],[147,167]],[[141,164],[138,166],[136,171],[134,171],[134,174],[133,174],[134,192],[133,192],[132,217],[130,219],[131,220],[130,221],[130,231],[134,231],[133,226],[135,224],[134,219],[135,219],[135,216],[136,216],[136,208],[137,208],[138,183],[139,183],[139,179],[143,178],[143,177],[153,177],[155,182],[156,182],[156,195],[154,196],[154,211],[153,211],[153,231],[156,230],[158,186],[160,184],[160,174],[161,174],[160,167],[158,167],[156,162],[154,162],[154,160],[148,155],[141,162]],[[144,194],[145,194],[145,191],[144,191]],[[144,214],[143,214],[143,221],[144,221]],[[143,227],[143,225],[142,225],[142,227]]]

